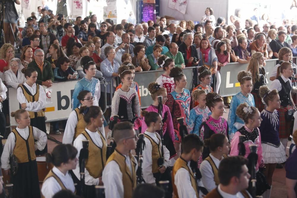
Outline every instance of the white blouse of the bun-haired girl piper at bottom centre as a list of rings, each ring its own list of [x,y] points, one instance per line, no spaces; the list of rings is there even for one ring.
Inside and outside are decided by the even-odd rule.
[[[159,134],[156,135],[156,133],[151,133],[148,131],[144,133],[149,137],[151,137],[151,139],[153,139],[157,144],[160,143],[159,139],[161,139],[161,137]],[[157,136],[159,137],[159,139]],[[143,150],[143,164],[142,164],[143,179],[146,181],[146,183],[156,184],[154,175],[152,173],[153,160],[151,157],[151,150],[152,150],[151,141],[147,137],[144,137],[144,141],[146,142],[146,146],[144,147],[144,150]],[[167,168],[171,164],[171,161],[169,160],[170,153],[168,149],[165,147],[165,145],[163,147],[163,150],[164,150],[164,166]]]

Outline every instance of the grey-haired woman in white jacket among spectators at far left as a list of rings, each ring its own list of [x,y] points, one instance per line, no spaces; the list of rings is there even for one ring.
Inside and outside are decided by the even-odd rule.
[[[23,65],[19,58],[12,58],[10,61],[10,69],[4,72],[4,81],[6,85],[10,85],[17,89],[26,82],[26,78],[22,73]]]

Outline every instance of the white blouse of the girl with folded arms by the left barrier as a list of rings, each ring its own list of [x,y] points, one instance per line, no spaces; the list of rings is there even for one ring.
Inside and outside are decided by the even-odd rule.
[[[32,87],[31,87],[25,82],[23,85],[26,86],[26,88],[30,91],[30,93],[32,95],[36,94],[38,84],[34,83],[32,85]],[[44,92],[43,87],[41,85],[38,85],[38,86],[39,86],[39,99],[38,99],[38,101],[35,101],[35,102],[28,102],[25,95],[23,94],[22,88],[21,87],[18,88],[18,95],[17,95],[18,101],[19,101],[20,104],[22,104],[22,103],[27,104],[27,107],[25,109],[27,111],[38,112],[41,109],[45,108],[45,104],[46,104],[46,102],[45,102],[45,92]]]

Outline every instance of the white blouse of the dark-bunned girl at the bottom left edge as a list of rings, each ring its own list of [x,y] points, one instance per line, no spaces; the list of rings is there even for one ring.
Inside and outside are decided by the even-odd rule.
[[[66,189],[72,191],[73,193],[75,192],[75,186],[68,171],[65,175],[57,167],[53,167],[52,171],[59,177]],[[41,193],[45,198],[52,198],[57,192],[61,190],[62,188],[58,181],[54,177],[50,177],[45,180],[45,182],[43,182]]]

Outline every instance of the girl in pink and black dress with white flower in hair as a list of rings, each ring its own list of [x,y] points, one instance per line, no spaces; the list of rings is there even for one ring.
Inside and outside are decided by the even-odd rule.
[[[262,146],[261,146],[261,136],[258,127],[261,124],[262,118],[260,112],[256,107],[251,107],[247,103],[240,104],[236,109],[236,115],[244,121],[244,126],[241,127],[231,140],[231,150],[230,156],[238,155],[238,143],[239,135],[244,135],[244,146],[245,146],[245,155],[244,157],[249,156],[250,149],[249,146],[255,144],[258,146],[257,154],[258,160],[256,169],[259,167],[264,167],[264,161],[262,157]]]

